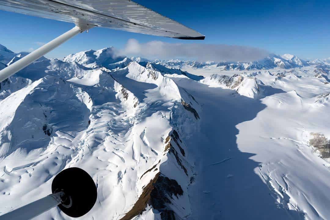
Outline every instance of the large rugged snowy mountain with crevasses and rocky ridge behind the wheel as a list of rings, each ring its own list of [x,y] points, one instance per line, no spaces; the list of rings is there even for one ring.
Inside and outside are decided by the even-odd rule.
[[[193,164],[181,126],[198,122],[199,104],[164,74],[115,62],[109,51],[34,62],[1,83],[0,190],[12,204],[1,213],[47,194],[56,173],[78,166],[98,186],[86,219],[191,214]],[[53,209],[38,218],[62,215]]]

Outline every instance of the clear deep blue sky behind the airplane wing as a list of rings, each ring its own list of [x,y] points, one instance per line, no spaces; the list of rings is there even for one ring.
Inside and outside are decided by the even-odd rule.
[[[252,46],[304,59],[330,57],[330,1],[135,1],[206,35],[204,41],[183,41],[93,28],[49,52],[49,58],[88,49],[123,48],[128,39],[140,43],[199,43]],[[0,11],[0,44],[29,51],[73,27],[73,24]]]

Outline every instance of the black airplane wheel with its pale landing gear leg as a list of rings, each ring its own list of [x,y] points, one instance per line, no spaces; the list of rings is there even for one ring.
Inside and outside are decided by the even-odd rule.
[[[58,173],[51,183],[52,194],[0,216],[0,220],[28,220],[53,207],[66,215],[78,218],[89,212],[97,199],[92,177],[78,167]]]

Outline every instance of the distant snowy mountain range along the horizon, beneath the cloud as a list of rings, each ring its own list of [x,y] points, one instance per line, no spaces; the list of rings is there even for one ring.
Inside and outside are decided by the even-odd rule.
[[[9,65],[16,60],[24,57],[28,52],[20,52],[14,53],[13,51],[7,49],[3,45],[0,45],[0,62]],[[47,58],[41,57],[37,61],[42,61]],[[305,61],[300,59],[299,57],[291,54],[269,54],[268,57],[252,62],[199,62],[195,60],[179,60],[179,59],[170,59],[170,60],[148,60],[142,57],[125,57],[125,56],[117,56],[114,50],[114,47],[107,47],[100,50],[87,50],[78,52],[76,54],[70,54],[63,59],[64,62],[77,62],[80,65],[83,65],[88,68],[95,67],[106,67],[109,69],[113,68],[122,68],[127,66],[129,62],[136,61],[140,62],[150,62],[154,64],[160,64],[162,66],[168,68],[176,68],[180,69],[182,67],[191,67],[195,69],[199,68],[216,68],[220,71],[226,70],[267,70],[273,68],[281,68],[281,69],[291,69],[297,67],[304,67],[310,65],[330,65],[330,58],[327,59],[315,59]],[[2,65],[3,65],[2,64]],[[108,66],[111,64],[112,66]],[[1,64],[0,64],[1,65]]]

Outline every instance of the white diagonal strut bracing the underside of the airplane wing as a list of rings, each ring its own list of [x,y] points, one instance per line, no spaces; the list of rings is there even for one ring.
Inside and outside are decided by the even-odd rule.
[[[58,47],[59,45],[63,44],[73,36],[82,33],[89,28],[94,27],[91,25],[79,25],[75,26],[71,30],[65,32],[64,34],[58,36],[54,40],[48,42],[47,44],[39,47],[35,51],[29,53],[28,55],[24,56],[23,58],[17,60],[15,63],[9,65],[8,67],[0,70],[0,82],[7,79],[8,77],[14,75],[24,67],[28,66],[29,64],[33,63],[49,51],[53,50],[54,48]]]

